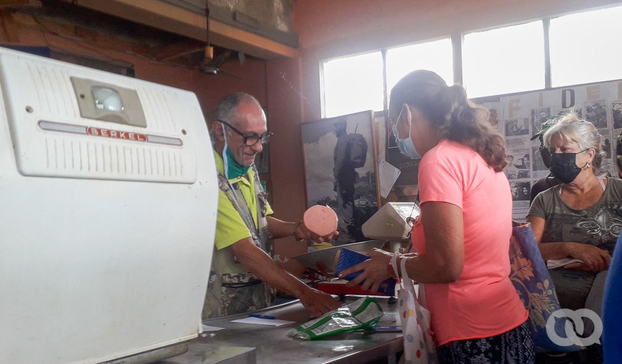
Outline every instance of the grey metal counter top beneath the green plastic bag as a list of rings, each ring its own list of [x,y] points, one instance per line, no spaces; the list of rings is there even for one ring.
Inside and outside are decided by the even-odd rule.
[[[360,296],[347,296],[350,303]],[[384,316],[379,326],[399,326],[396,304],[389,304],[388,298],[376,297],[383,307]],[[287,336],[287,331],[310,320],[300,301],[256,311],[277,319],[295,321],[295,324],[279,327],[241,324],[232,320],[248,317],[248,314],[218,317],[203,321],[203,324],[225,327],[224,330],[207,332],[205,337],[188,342],[189,350],[184,355],[170,358],[159,364],[223,363],[222,358],[210,360],[210,353],[223,348],[256,348],[257,363],[366,363],[386,358],[403,350],[401,333],[380,332],[367,334],[362,331],[335,335],[320,340],[301,340]],[[238,350],[239,351],[239,350]],[[241,362],[241,361],[238,361]]]

